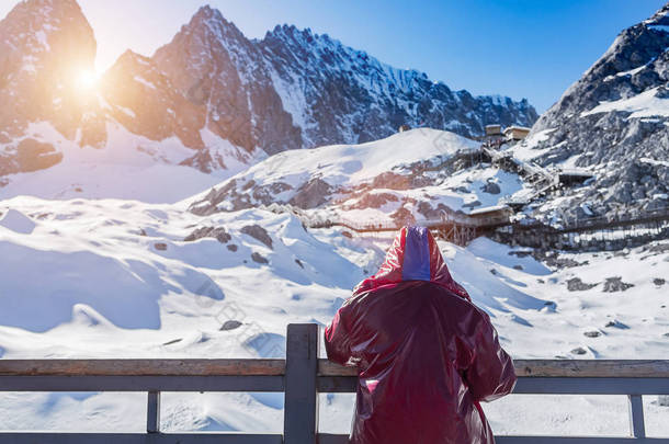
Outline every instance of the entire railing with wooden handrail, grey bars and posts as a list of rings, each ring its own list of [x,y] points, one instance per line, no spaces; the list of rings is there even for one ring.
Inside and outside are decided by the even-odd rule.
[[[352,368],[318,357],[315,323],[290,325],[285,360],[0,360],[0,391],[144,391],[146,433],[0,432],[2,444],[344,444],[318,433],[318,394],[352,392]],[[669,444],[646,437],[643,395],[669,395],[669,361],[514,361],[515,394],[626,395],[630,436],[497,436],[500,444]],[[282,434],[162,433],[161,391],[284,392]],[[0,418],[0,424],[2,419]]]

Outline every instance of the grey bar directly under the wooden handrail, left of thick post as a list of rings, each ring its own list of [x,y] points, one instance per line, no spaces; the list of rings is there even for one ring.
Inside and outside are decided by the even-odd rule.
[[[283,376],[0,376],[0,391],[283,390]]]

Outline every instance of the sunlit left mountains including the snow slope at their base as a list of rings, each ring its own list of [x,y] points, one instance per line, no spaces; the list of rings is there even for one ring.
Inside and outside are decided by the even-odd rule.
[[[95,79],[95,48],[75,0],[0,22],[0,198],[174,202],[267,157],[211,130],[149,58],[127,52]]]

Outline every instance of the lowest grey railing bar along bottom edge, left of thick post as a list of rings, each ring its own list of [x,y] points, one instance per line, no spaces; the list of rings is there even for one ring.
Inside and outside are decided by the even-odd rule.
[[[12,444],[282,444],[281,434],[247,433],[0,433]]]

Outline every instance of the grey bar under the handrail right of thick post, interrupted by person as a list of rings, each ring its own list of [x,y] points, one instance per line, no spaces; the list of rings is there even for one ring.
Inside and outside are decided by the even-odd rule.
[[[351,376],[319,376],[318,391],[352,392],[358,379]],[[582,378],[521,376],[513,390],[524,395],[669,395],[669,378]]]

